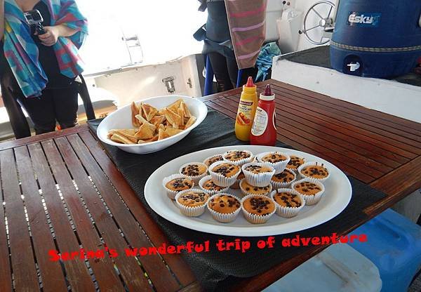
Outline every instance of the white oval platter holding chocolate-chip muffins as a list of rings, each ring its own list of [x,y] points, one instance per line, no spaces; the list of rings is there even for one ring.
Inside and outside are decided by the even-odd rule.
[[[253,152],[253,154],[267,151],[279,151],[304,157],[307,161],[320,161],[330,169],[330,178],[323,183],[326,188],[325,193],[319,203],[313,206],[305,206],[296,217],[281,218],[274,214],[267,223],[262,225],[248,223],[246,219],[243,218],[242,213],[240,213],[232,223],[219,223],[218,221],[215,221],[207,210],[203,215],[196,218],[188,218],[182,215],[174,201],[171,201],[171,199],[167,197],[166,191],[162,185],[163,178],[173,173],[178,173],[182,164],[192,161],[203,161],[212,155],[222,154],[235,149],[249,150]],[[237,197],[241,197],[239,190],[229,189],[228,192]],[[328,161],[312,154],[296,150],[249,145],[211,148],[178,157],[156,169],[156,171],[149,176],[145,185],[145,199],[147,204],[149,204],[156,213],[163,218],[166,218],[166,220],[182,227],[201,232],[243,237],[286,234],[320,225],[341,213],[349,204],[351,196],[352,187],[347,176]]]

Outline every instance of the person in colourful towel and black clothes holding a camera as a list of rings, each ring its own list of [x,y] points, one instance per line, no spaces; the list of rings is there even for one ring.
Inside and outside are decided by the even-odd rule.
[[[29,27],[23,12],[38,10],[45,34]],[[0,84],[16,138],[30,135],[20,105],[36,134],[77,124],[81,74],[77,50],[87,21],[74,0],[0,0]],[[26,124],[26,125],[25,125]]]

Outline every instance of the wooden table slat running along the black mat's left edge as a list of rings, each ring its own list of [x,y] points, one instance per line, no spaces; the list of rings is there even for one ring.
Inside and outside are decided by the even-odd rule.
[[[88,147],[91,154],[97,161],[98,165],[102,168],[102,171],[107,175],[112,185],[121,195],[121,198],[126,203],[128,208],[131,210],[135,219],[140,223],[142,230],[145,230],[149,239],[155,244],[159,245],[163,242],[168,243],[168,239],[162,230],[159,229],[158,225],[154,223],[154,220],[149,215],[145,207],[140,204],[138,197],[135,192],[129,187],[123,178],[123,175],[116,169],[113,162],[109,159],[105,151],[100,147],[98,141],[93,138],[91,133],[79,133],[79,136],[83,140],[83,143]],[[171,265],[171,259],[164,257],[167,263],[170,265],[171,270],[180,279],[182,283],[190,284],[195,281],[194,275],[190,268],[180,261],[177,261],[177,265]]]

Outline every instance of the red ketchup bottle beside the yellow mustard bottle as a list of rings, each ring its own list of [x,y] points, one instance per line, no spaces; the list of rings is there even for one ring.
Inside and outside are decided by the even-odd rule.
[[[275,95],[267,84],[265,92],[260,94],[253,127],[250,133],[251,145],[274,146],[276,143]]]

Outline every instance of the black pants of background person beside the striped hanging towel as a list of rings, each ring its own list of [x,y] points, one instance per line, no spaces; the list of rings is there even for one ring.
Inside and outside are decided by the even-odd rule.
[[[235,58],[228,58],[220,53],[208,53],[210,65],[212,65],[213,74],[218,82],[218,91],[227,91],[236,88],[237,77],[239,74],[239,67],[236,64]],[[246,84],[249,76],[255,79],[257,70],[254,68],[243,69],[241,75],[240,86]]]

